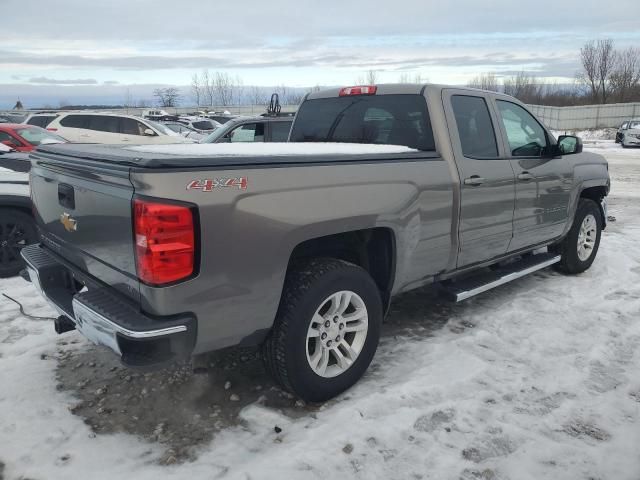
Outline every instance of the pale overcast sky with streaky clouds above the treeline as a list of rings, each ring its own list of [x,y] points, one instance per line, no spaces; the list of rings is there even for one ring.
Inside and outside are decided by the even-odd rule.
[[[0,105],[46,91],[188,85],[202,69],[245,85],[411,78],[464,84],[527,70],[571,81],[580,46],[640,46],[638,0],[0,0]],[[71,90],[69,85],[82,89]],[[4,93],[3,93],[4,91]]]

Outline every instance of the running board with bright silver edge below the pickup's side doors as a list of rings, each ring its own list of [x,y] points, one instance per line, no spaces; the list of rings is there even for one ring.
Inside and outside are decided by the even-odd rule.
[[[560,255],[540,253],[523,257],[517,262],[486,273],[477,274],[442,285],[445,296],[455,302],[461,302],[492,288],[512,282],[518,278],[547,268],[560,261]]]

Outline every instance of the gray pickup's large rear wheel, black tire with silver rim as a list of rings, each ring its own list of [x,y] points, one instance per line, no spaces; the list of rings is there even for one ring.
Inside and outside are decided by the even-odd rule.
[[[347,308],[341,312],[336,308],[340,313],[334,316],[334,305],[341,307],[346,298]],[[360,317],[350,320],[350,315]],[[317,258],[293,267],[287,273],[278,314],[263,345],[266,368],[285,390],[307,402],[333,398],[354,385],[369,367],[378,347],[382,316],[378,287],[357,265]],[[352,331],[356,328],[358,331]],[[338,347],[334,343],[333,350],[325,348],[332,339],[338,340]],[[344,345],[349,342],[351,353],[347,354]],[[328,363],[322,365],[328,351]],[[338,362],[339,356],[342,362]],[[349,361],[349,356],[354,360]],[[314,369],[315,358],[319,360]]]

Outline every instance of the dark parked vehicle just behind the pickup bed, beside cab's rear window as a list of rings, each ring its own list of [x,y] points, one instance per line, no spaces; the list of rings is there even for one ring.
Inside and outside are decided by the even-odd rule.
[[[286,142],[292,123],[290,116],[238,117],[229,120],[200,143]]]

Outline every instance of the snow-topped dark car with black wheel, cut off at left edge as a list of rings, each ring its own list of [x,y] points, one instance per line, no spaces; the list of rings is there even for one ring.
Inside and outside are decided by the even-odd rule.
[[[26,153],[0,143],[0,277],[12,277],[24,268],[22,249],[38,241],[29,198]]]

